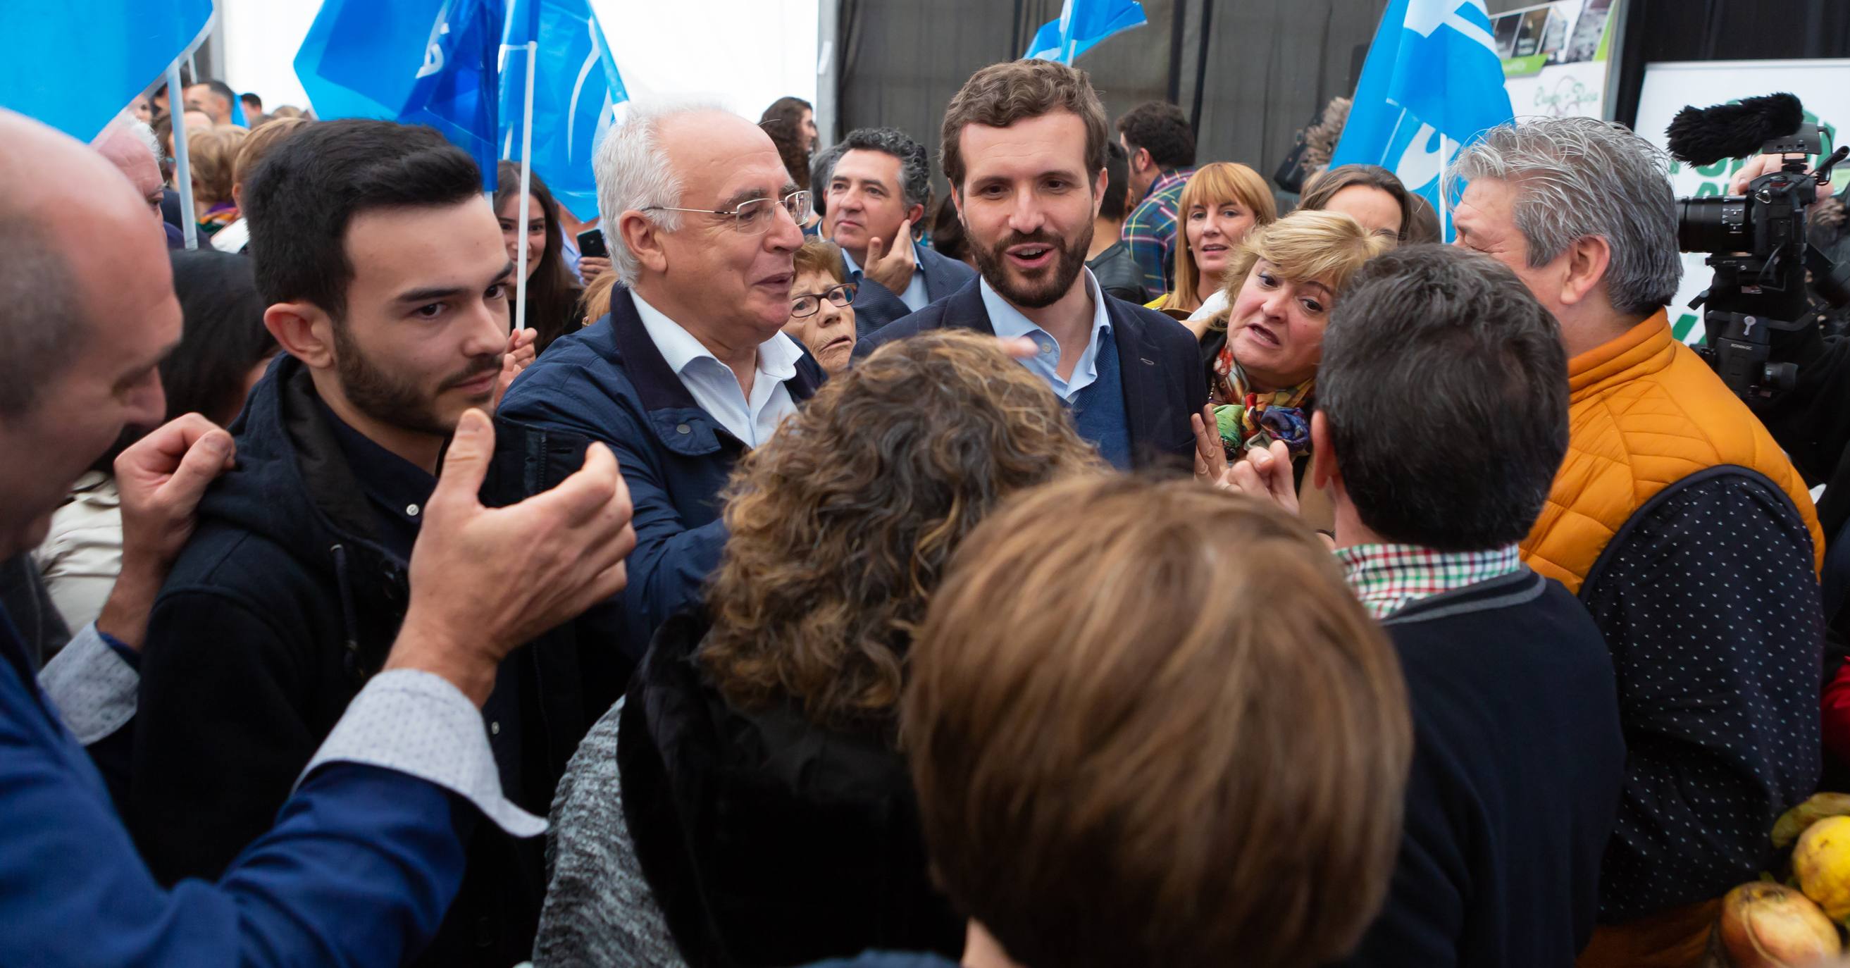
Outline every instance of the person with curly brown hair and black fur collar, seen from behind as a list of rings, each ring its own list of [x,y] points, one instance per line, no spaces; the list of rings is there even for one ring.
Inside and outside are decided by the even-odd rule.
[[[535,961],[955,957],[895,748],[906,650],[999,502],[1099,468],[993,337],[925,333],[825,383],[733,474],[710,622],[670,620],[574,757]]]

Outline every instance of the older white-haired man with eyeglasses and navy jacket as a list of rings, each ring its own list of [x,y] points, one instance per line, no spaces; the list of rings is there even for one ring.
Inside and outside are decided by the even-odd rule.
[[[810,196],[749,120],[638,104],[594,159],[618,289],[507,391],[501,416],[605,441],[635,502],[625,605],[636,655],[720,563],[733,465],[823,368],[783,333]]]

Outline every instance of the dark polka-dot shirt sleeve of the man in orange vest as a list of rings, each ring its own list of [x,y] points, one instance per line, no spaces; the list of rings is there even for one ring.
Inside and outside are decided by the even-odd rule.
[[[1824,618],[1811,537],[1745,468],[1672,485],[1582,600],[1619,676],[1626,783],[1600,920],[1717,898],[1772,866],[1772,822],[1820,770]]]

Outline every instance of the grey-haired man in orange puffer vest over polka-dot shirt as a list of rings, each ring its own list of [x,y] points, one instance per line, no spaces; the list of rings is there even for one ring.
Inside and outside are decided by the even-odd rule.
[[[1569,355],[1569,452],[1523,557],[1606,633],[1628,746],[1580,964],[1693,966],[1715,898],[1770,866],[1772,822],[1817,785],[1824,535],[1761,422],[1671,337],[1661,152],[1536,118],[1449,174],[1469,180],[1458,244],[1513,268]]]

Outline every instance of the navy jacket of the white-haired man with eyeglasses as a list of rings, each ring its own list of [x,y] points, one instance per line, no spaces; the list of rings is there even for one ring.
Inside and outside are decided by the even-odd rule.
[[[790,398],[808,400],[825,374],[805,352]],[[629,646],[640,657],[655,629],[696,607],[720,565],[720,490],[749,450],[694,402],[636,315],[629,289],[610,313],[561,337],[501,400],[501,416],[583,433],[616,453],[635,505],[636,550],[623,590]]]

